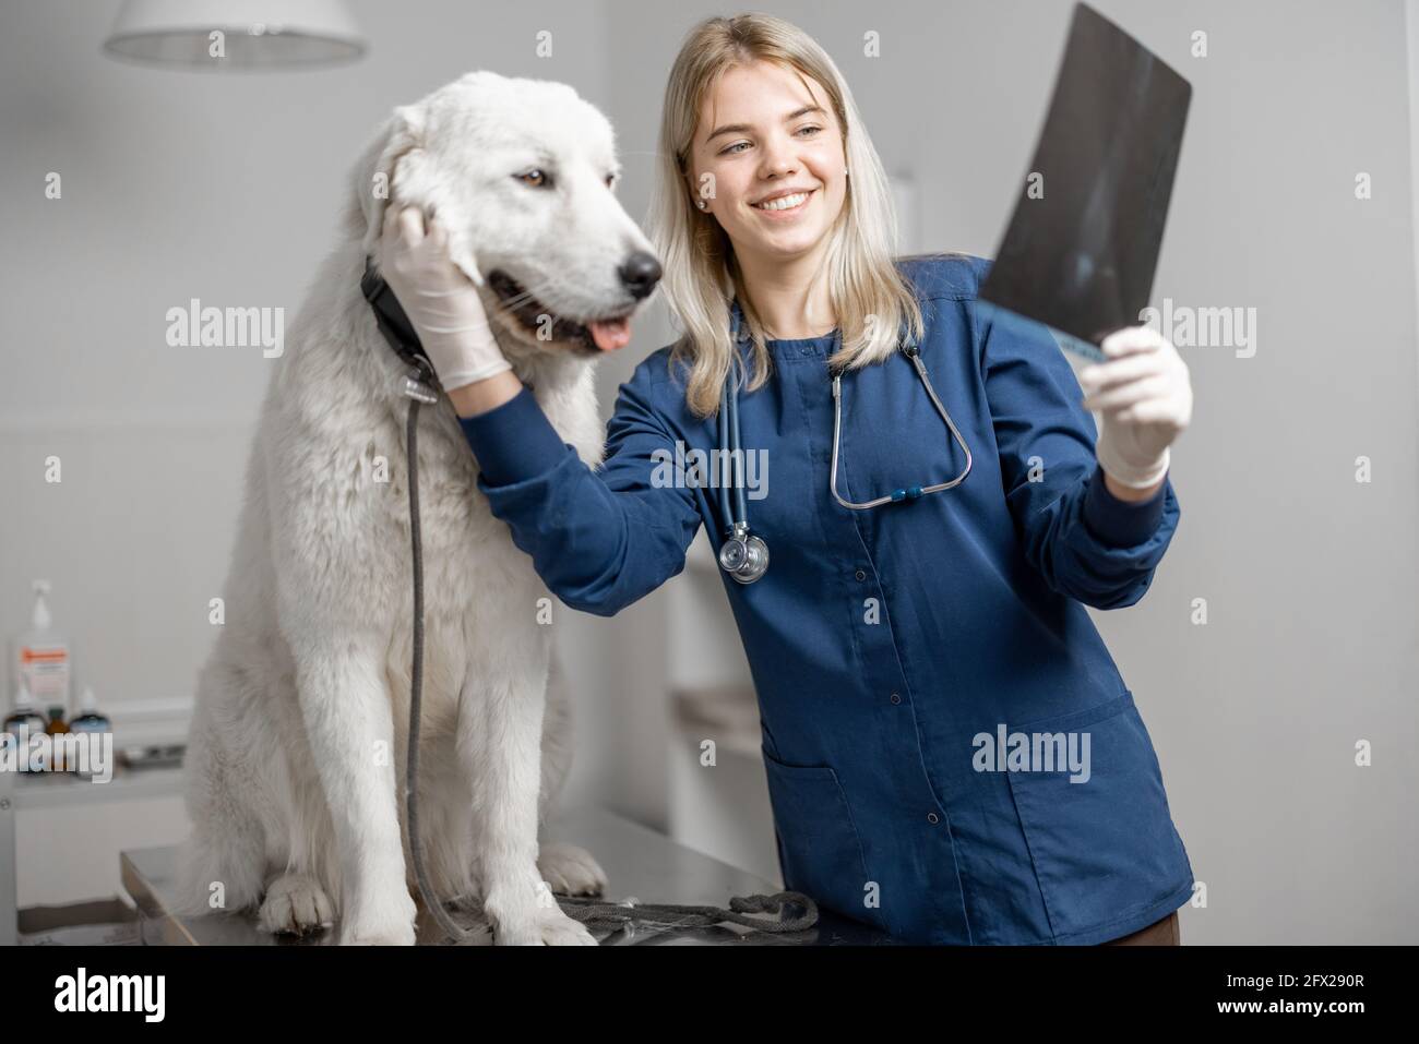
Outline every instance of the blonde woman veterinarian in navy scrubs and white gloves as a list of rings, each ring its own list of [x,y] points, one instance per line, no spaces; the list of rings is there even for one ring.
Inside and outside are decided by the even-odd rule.
[[[724,583],[786,887],[904,942],[1176,942],[1192,867],[1086,611],[1138,601],[1176,528],[1169,444],[1192,409],[1176,350],[1128,328],[1076,380],[1043,328],[978,313],[986,261],[894,262],[887,177],[847,85],[778,18],[691,31],[660,152],[651,237],[685,333],[620,386],[596,471],[495,343],[440,338],[440,315],[481,319],[481,304],[441,235],[402,220],[390,284],[436,370],[499,370],[451,390],[492,512],[562,601],[620,611],[684,567],[701,523],[725,543],[719,491],[664,481],[664,461],[677,441],[721,445],[738,360],[742,445],[771,465],[746,513],[771,563]],[[959,440],[900,350],[912,343]],[[1063,733],[1084,770],[998,759],[1016,732]]]

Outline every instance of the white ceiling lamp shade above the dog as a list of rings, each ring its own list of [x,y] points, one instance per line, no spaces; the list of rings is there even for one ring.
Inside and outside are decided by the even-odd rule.
[[[365,47],[343,0],[123,0],[104,41],[114,58],[219,71],[329,65]]]

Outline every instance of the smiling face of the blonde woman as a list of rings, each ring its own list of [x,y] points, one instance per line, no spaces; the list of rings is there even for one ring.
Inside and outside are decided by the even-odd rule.
[[[692,199],[705,201],[735,254],[783,262],[822,250],[847,196],[843,133],[827,91],[755,61],[707,94],[690,149]],[[711,176],[712,197],[701,186]]]

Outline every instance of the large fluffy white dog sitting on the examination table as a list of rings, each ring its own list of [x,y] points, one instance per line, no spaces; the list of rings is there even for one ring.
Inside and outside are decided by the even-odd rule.
[[[345,943],[414,940],[409,400],[360,295],[365,258],[379,258],[387,199],[434,213],[517,374],[595,467],[589,363],[597,343],[624,340],[654,264],[612,194],[616,172],[610,125],[575,91],[490,72],[396,109],[358,165],[342,243],[275,363],[247,470],[226,626],[187,749],[183,912],[260,905],[271,932],[338,916]],[[604,874],[580,848],[538,847],[570,759],[551,628],[538,623],[548,593],[478,494],[446,397],[423,410],[419,470],[419,800],[433,887],[477,896],[498,943],[595,943],[543,881],[596,894]]]

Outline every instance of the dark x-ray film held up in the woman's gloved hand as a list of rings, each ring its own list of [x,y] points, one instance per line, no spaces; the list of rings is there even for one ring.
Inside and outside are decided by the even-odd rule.
[[[1191,99],[1158,55],[1076,4],[1034,160],[981,288],[985,312],[1042,322],[1095,362],[1105,336],[1138,325]]]

